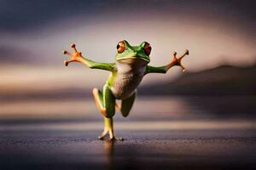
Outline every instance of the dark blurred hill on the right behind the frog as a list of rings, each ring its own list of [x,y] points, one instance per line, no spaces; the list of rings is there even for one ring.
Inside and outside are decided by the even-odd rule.
[[[255,95],[256,65],[222,65],[206,71],[187,72],[171,82],[143,86],[138,94]]]

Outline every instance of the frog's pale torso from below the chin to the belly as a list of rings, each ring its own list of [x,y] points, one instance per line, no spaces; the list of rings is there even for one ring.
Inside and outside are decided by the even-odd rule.
[[[113,75],[111,91],[116,99],[126,99],[134,93],[142,82],[146,71],[146,64],[116,63],[116,74]]]

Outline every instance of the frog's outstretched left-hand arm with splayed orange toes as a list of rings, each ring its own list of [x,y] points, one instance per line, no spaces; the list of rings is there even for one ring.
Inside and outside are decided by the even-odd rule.
[[[69,53],[68,51],[63,51],[63,54],[68,54],[71,56],[70,60],[65,60],[64,64],[67,66],[71,62],[80,62],[84,65],[88,66],[91,69],[101,69],[106,71],[113,71],[114,69],[114,63],[98,63],[95,61],[92,61],[90,59],[86,59],[82,56],[82,53],[79,52],[75,46],[75,44],[71,45],[71,48],[73,48],[73,54]]]

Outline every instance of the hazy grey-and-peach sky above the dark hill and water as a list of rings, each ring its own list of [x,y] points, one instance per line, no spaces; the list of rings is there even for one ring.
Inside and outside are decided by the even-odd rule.
[[[108,72],[63,65],[71,43],[89,59],[113,62],[116,45],[147,41],[150,65],[182,54],[187,71],[256,62],[255,1],[0,1],[0,94],[100,87]],[[168,81],[182,74],[145,77]]]

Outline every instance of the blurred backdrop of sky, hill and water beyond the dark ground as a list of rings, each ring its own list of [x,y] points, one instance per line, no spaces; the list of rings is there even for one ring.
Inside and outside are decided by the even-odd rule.
[[[91,89],[108,71],[66,67],[61,52],[75,43],[88,59],[113,62],[124,39],[149,42],[150,65],[185,48],[189,56],[185,73],[144,77],[131,116],[117,111],[116,120],[254,120],[255,8],[253,0],[0,1],[0,122],[102,122]]]

